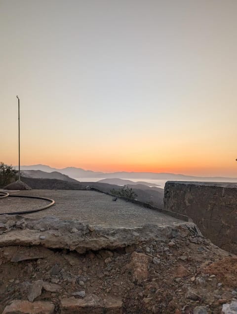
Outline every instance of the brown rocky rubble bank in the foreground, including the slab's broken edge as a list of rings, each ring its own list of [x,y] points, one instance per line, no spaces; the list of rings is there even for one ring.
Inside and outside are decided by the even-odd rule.
[[[193,223],[116,230],[3,215],[0,313],[234,314],[237,257]]]

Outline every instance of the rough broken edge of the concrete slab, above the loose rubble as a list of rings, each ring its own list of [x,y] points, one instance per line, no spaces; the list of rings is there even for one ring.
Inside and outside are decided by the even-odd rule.
[[[78,222],[78,228],[80,227],[80,230],[72,232],[74,223],[76,223],[75,221],[56,219],[55,221],[59,226],[57,230],[40,231],[34,229],[34,224],[39,224],[40,219],[25,218],[19,215],[3,215],[1,218],[4,219],[3,221],[6,221],[8,216],[11,221],[15,219],[15,221],[19,222],[19,219],[24,219],[28,224],[31,223],[31,227],[33,227],[29,229],[26,225],[24,229],[14,227],[7,229],[0,236],[0,247],[8,245],[42,245],[47,248],[66,248],[84,253],[87,250],[99,250],[103,248],[116,249],[118,247],[139,244],[143,241],[172,238],[179,233],[181,234],[182,229],[190,235],[202,237],[197,226],[190,222],[181,222],[177,225],[167,224],[166,226],[149,224],[135,228],[91,227]],[[52,218],[53,217],[51,217],[51,219]],[[71,231],[68,229],[70,225],[66,225],[66,223],[72,224]],[[61,228],[60,224],[62,224]]]

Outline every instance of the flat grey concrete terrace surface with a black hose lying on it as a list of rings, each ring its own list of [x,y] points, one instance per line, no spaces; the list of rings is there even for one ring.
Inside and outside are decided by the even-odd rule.
[[[57,216],[60,219],[79,220],[90,225],[103,227],[139,227],[144,224],[174,226],[182,220],[154,209],[147,209],[124,200],[112,201],[103,193],[85,190],[32,190],[10,192],[14,195],[31,195],[53,199],[55,205],[39,212],[24,214],[27,218]],[[48,204],[37,199],[7,197],[0,200],[0,213],[36,209]]]

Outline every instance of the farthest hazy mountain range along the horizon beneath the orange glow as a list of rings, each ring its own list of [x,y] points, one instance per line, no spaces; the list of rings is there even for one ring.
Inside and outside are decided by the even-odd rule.
[[[15,166],[15,169],[18,169]],[[185,175],[185,174],[170,174],[170,173],[152,173],[152,172],[114,172],[114,173],[103,173],[103,172],[94,172],[91,170],[83,170],[76,167],[67,167],[63,169],[56,169],[46,165],[30,165],[30,166],[21,166],[21,170],[40,170],[47,173],[59,172],[70,176],[71,178],[85,178],[85,177],[98,177],[98,178],[120,178],[120,179],[157,179],[157,180],[196,180],[196,181],[226,181],[226,182],[237,182],[237,178],[230,177],[202,177],[194,175]]]

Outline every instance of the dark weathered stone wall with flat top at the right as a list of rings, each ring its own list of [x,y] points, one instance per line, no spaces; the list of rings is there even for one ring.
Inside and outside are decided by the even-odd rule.
[[[237,254],[237,184],[167,181],[164,209],[189,216],[203,236]]]

